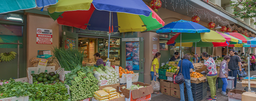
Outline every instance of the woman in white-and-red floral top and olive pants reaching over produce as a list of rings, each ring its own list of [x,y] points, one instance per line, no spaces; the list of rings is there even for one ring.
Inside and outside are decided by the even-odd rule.
[[[196,70],[196,72],[202,72],[202,71],[207,71],[206,73],[206,78],[209,83],[209,87],[211,90],[211,97],[207,98],[207,101],[216,101],[216,79],[217,79],[217,69],[216,69],[216,63],[213,58],[209,58],[208,53],[203,52],[201,54],[202,58],[206,60],[206,62],[203,64],[203,67]]]

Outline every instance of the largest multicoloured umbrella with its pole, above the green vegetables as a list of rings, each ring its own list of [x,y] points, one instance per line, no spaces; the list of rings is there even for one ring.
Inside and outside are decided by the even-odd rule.
[[[140,32],[164,26],[163,20],[142,0],[60,0],[47,9],[60,25],[107,31],[109,39],[110,33],[118,30]]]

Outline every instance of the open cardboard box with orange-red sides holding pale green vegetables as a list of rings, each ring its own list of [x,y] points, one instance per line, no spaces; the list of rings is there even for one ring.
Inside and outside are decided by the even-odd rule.
[[[136,89],[136,90],[128,90],[128,89],[123,89],[123,86],[127,86],[127,85],[119,85],[117,86],[117,92],[120,94],[125,95],[125,98],[129,99],[137,99],[140,97],[144,97],[144,96],[148,96],[150,95],[150,99],[151,99],[151,94],[153,93],[153,88],[151,85],[147,84],[147,83],[142,83],[142,82],[134,82],[134,85],[140,85],[140,86],[146,86],[147,88],[140,88],[140,89]],[[147,97],[146,97],[147,98]],[[149,98],[147,98],[149,99]]]

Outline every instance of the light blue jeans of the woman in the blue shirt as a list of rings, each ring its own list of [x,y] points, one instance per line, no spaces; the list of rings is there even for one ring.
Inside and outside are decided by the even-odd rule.
[[[184,82],[185,82],[186,88],[187,88],[188,101],[194,101],[192,91],[191,91],[190,79],[185,79]],[[184,82],[180,85],[180,93],[181,93],[181,100],[180,101],[185,101]]]

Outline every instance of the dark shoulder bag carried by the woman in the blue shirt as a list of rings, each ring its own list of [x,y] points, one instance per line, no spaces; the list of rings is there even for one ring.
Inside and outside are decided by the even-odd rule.
[[[178,72],[178,70],[175,72],[175,74],[173,74],[173,83],[174,84],[182,84],[184,81],[185,81],[185,78],[184,78],[184,76],[183,76],[183,74],[182,74],[182,60],[181,60],[181,67],[180,67],[180,71],[181,71],[181,73],[180,74],[178,74],[179,72]]]

